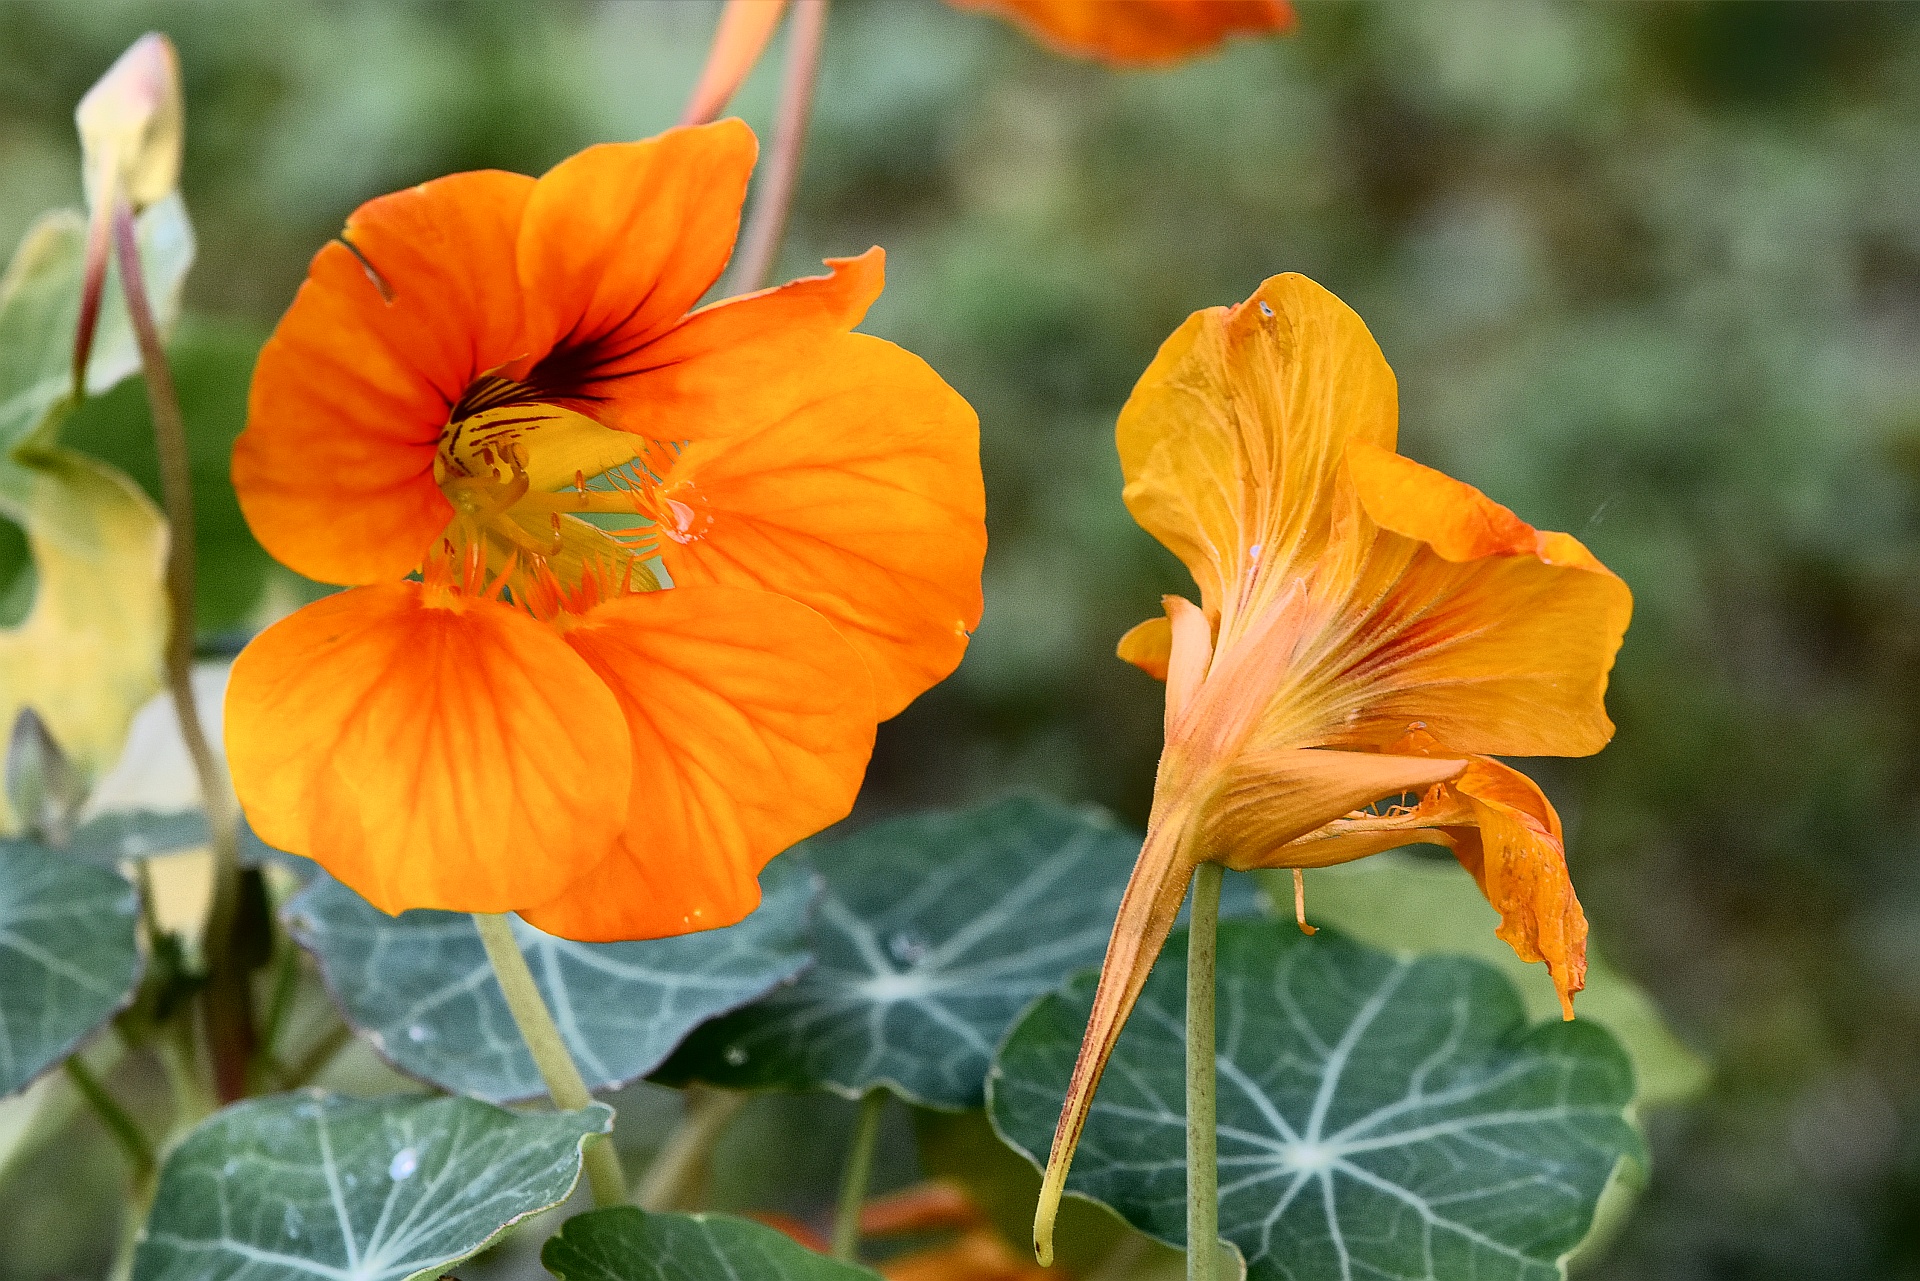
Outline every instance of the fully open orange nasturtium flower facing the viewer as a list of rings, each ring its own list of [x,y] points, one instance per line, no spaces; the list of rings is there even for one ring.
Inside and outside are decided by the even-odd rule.
[[[234,486],[351,590],[234,663],[259,835],[376,906],[572,939],[739,920],[960,661],[977,421],[849,332],[881,252],[693,309],[739,121],[361,205],[261,351]]]

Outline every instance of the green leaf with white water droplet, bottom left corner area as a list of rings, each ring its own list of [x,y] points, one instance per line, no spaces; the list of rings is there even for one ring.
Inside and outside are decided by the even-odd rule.
[[[438,1277],[574,1191],[612,1110],[301,1091],[238,1102],[167,1156],[134,1281]]]

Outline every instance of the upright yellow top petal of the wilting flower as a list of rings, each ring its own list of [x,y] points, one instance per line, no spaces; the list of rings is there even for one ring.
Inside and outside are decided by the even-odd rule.
[[[1235,584],[1311,572],[1348,442],[1390,449],[1398,419],[1365,323],[1306,277],[1273,277],[1196,311],[1140,375],[1117,426],[1127,509],[1219,618]]]

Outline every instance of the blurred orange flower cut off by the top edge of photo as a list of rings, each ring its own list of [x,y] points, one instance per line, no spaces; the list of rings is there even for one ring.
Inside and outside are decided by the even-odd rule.
[[[1238,35],[1294,25],[1286,0],[952,0],[964,10],[1000,13],[1039,42],[1100,61],[1154,65],[1179,61]]]

